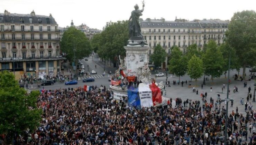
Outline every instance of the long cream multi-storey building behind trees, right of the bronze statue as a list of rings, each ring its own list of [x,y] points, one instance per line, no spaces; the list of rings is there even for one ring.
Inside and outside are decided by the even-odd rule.
[[[219,19],[194,21],[177,18],[175,21],[165,21],[163,18],[146,19],[141,21],[141,33],[150,47],[148,55],[153,54],[157,44],[160,44],[170,55],[173,46],[179,47],[185,53],[186,48],[192,44],[202,47],[210,40],[214,40],[220,45],[225,38],[228,23],[227,20]],[[162,68],[167,68],[167,57]]]

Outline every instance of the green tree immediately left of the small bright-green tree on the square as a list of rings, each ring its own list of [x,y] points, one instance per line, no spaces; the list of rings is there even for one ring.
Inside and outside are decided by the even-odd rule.
[[[179,80],[181,76],[186,74],[186,69],[188,66],[188,61],[186,56],[183,55],[182,51],[178,47],[173,47],[171,59],[169,61],[168,69],[174,75],[179,76]]]

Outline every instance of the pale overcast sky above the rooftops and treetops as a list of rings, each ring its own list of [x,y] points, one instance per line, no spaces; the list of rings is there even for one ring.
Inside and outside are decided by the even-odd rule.
[[[60,27],[85,23],[90,28],[102,29],[106,22],[127,20],[137,3],[142,8],[142,0],[0,0],[0,12],[36,14],[52,16]],[[234,12],[255,10],[256,0],[145,0],[146,18],[175,20],[231,19]]]

